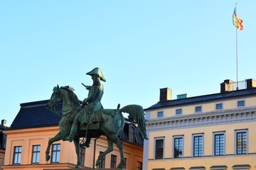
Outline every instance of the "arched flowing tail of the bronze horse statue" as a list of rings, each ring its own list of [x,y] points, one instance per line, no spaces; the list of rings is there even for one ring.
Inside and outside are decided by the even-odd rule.
[[[146,125],[144,118],[144,109],[139,105],[128,105],[121,108],[120,113],[129,113],[129,115],[134,118],[135,123],[138,124],[139,131],[141,132],[142,138],[144,140],[149,140],[149,137],[146,136]]]

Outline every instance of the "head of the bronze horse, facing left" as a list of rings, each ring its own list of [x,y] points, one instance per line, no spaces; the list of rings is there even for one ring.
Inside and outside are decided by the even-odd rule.
[[[63,95],[60,87],[57,85],[53,88],[53,94],[50,96],[50,101],[46,104],[46,108],[50,111],[55,111],[55,107],[62,101]]]

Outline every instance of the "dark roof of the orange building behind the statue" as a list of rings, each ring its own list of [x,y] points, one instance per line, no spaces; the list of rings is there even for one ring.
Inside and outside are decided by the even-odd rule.
[[[21,103],[21,109],[18,111],[14,122],[9,130],[26,129],[26,128],[41,128],[48,126],[57,126],[60,121],[60,116],[48,111],[46,104],[49,100],[34,101],[29,103]],[[56,111],[61,113],[62,103],[58,104]],[[125,126],[128,124],[126,123]],[[136,144],[143,145],[142,136],[139,133],[139,128],[136,128]],[[122,130],[119,137],[123,141],[129,141],[128,132]]]

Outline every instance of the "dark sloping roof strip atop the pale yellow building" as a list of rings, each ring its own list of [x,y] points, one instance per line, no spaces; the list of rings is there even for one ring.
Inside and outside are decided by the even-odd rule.
[[[145,111],[149,111],[151,109],[156,109],[156,108],[166,108],[166,107],[172,107],[172,106],[181,106],[181,105],[188,105],[191,103],[203,103],[203,102],[209,102],[209,101],[220,101],[228,98],[242,98],[245,96],[253,96],[253,95],[256,95],[256,88],[242,89],[237,91],[227,91],[225,93],[219,93],[219,94],[208,94],[203,96],[195,96],[195,97],[181,98],[181,99],[176,99],[171,101],[158,102],[153,106],[146,108]]]

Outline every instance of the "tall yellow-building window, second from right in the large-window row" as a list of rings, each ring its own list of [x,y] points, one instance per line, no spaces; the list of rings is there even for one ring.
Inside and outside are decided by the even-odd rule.
[[[225,135],[224,133],[214,134],[214,155],[221,156],[225,154]]]

